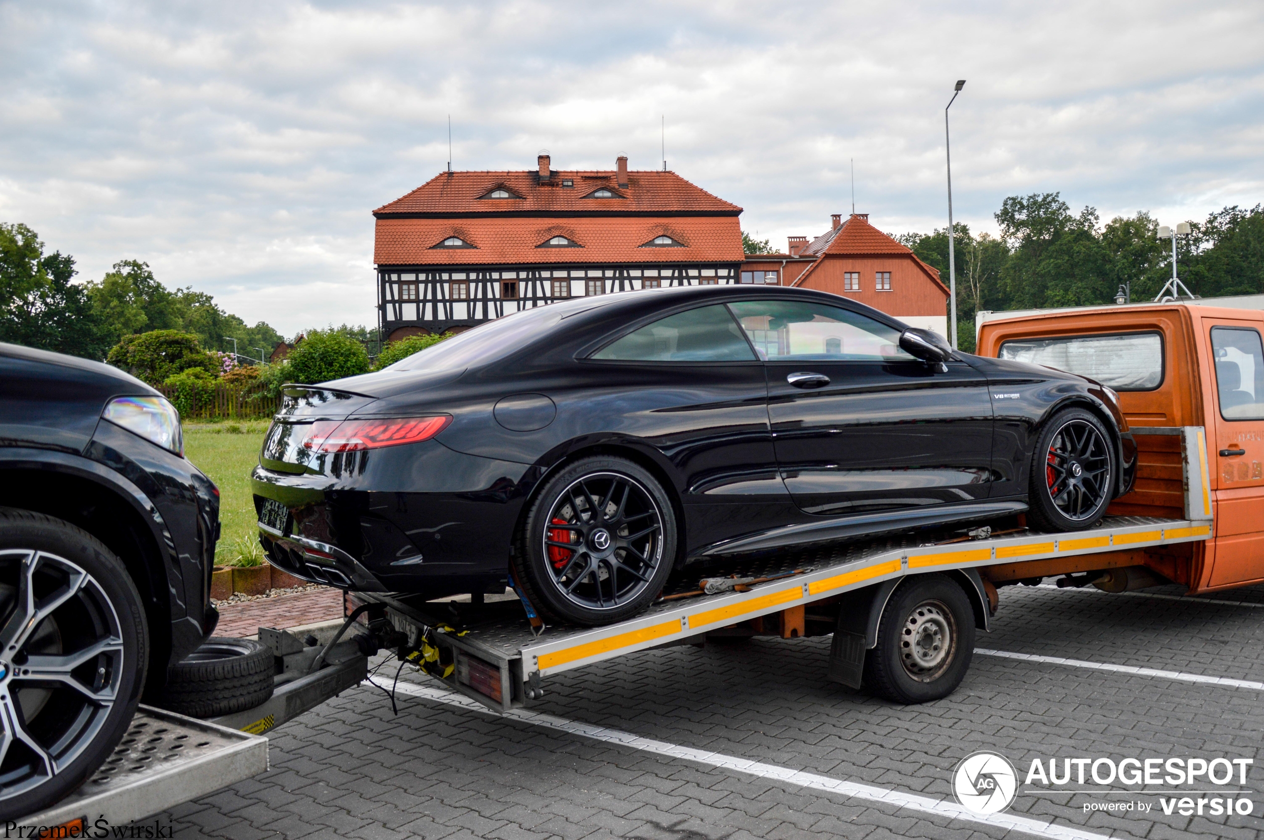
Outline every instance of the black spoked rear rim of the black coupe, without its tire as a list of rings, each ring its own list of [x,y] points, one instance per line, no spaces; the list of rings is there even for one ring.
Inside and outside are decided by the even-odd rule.
[[[541,538],[549,580],[579,606],[623,606],[653,580],[662,532],[662,510],[640,481],[621,472],[585,475],[549,512]]]

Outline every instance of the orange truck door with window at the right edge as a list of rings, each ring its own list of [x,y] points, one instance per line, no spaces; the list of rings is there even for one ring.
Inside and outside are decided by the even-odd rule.
[[[1203,318],[1215,408],[1216,556],[1211,586],[1264,579],[1264,342],[1259,322]]]

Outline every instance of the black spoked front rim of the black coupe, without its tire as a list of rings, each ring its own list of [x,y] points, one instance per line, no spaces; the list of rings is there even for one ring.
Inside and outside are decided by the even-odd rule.
[[[1049,499],[1073,522],[1095,517],[1110,494],[1110,447],[1097,427],[1083,419],[1063,423],[1045,452]]]

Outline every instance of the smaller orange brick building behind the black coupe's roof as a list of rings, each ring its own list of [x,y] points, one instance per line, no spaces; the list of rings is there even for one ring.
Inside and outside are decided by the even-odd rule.
[[[939,272],[870,225],[868,213],[830,221],[830,230],[811,243],[791,236],[785,254],[747,255],[741,282],[830,292],[948,336],[948,287]]]

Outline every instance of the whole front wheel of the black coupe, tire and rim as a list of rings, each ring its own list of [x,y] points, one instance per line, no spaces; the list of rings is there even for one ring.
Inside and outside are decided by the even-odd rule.
[[[1047,532],[1091,528],[1111,503],[1115,477],[1115,441],[1097,416],[1058,412],[1031,453],[1028,523]]]

